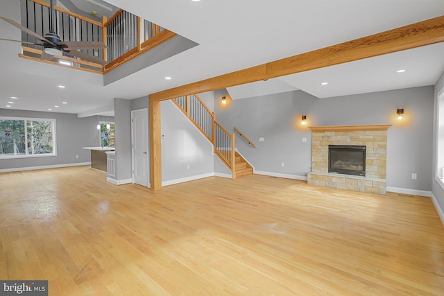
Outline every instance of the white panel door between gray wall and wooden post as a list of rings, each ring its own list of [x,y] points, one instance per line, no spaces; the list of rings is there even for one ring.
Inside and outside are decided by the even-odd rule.
[[[133,180],[135,184],[148,186],[148,110],[131,111],[133,142]]]

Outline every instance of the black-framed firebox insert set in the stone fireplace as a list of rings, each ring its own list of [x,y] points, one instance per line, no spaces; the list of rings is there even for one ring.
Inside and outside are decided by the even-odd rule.
[[[366,175],[366,146],[329,145],[328,173]]]

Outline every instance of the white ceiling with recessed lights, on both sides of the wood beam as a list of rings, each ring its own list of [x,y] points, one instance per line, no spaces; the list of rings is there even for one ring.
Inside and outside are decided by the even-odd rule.
[[[15,0],[0,15],[19,21]],[[18,1],[17,1],[18,2]],[[17,57],[20,45],[0,41],[0,108],[96,114],[113,98],[138,98],[171,87],[287,58],[444,15],[444,0],[108,0],[199,45],[103,86],[101,75]],[[0,37],[19,39],[0,23]],[[268,80],[318,98],[434,85],[444,71],[444,42]],[[404,73],[395,73],[407,69]],[[172,80],[164,80],[171,76]],[[266,83],[267,83],[266,82]],[[321,85],[328,82],[328,85]],[[66,85],[58,89],[57,85]],[[262,83],[259,83],[262,85]],[[257,84],[257,85],[259,85]],[[238,87],[239,97],[260,87]],[[273,92],[280,92],[275,89]],[[230,92],[231,94],[231,92]],[[233,95],[232,95],[233,96]],[[239,98],[236,97],[236,98]],[[67,101],[67,105],[61,105]]]

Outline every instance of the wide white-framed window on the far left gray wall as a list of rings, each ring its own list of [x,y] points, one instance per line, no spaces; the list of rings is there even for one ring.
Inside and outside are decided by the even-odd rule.
[[[0,117],[0,157],[56,155],[56,119]]]

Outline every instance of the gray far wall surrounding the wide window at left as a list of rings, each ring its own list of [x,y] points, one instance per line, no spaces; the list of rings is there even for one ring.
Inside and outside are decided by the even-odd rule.
[[[99,146],[100,135],[99,130],[96,129],[97,116],[78,119],[76,114],[6,109],[0,109],[0,116],[56,119],[57,141],[57,156],[0,159],[0,169],[91,162],[90,151],[82,147]]]

